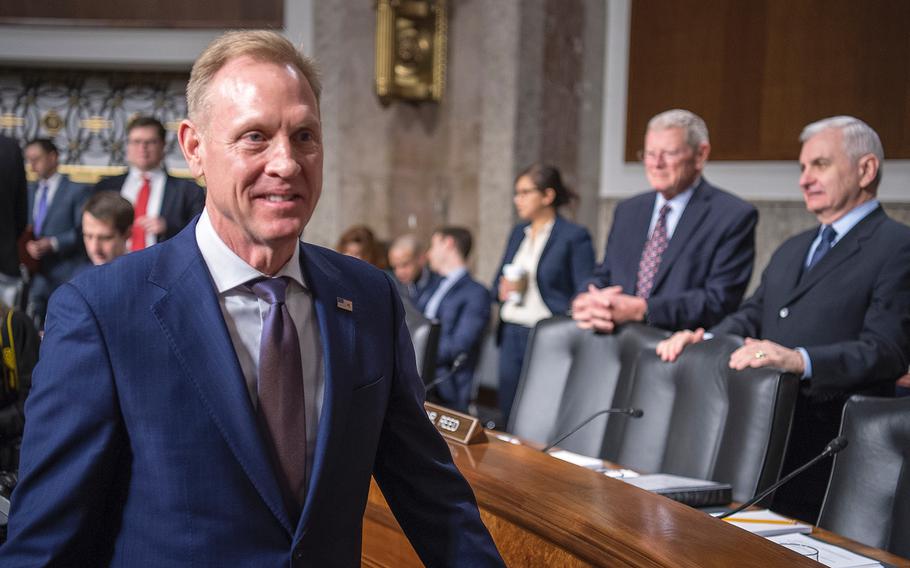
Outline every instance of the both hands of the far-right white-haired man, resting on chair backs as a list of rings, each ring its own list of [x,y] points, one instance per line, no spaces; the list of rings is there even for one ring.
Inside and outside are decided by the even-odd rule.
[[[657,344],[657,354],[664,361],[676,361],[687,346],[698,343],[704,338],[705,330],[703,328],[695,331],[688,329],[677,331]],[[796,349],[788,349],[773,341],[751,337],[747,337],[742,347],[730,354],[729,365],[731,369],[737,371],[749,367],[753,369],[775,367],[797,375],[802,375],[805,371],[803,358]]]

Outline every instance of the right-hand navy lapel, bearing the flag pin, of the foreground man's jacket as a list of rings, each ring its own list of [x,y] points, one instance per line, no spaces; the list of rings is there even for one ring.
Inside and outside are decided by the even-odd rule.
[[[328,263],[315,247],[302,245],[301,263],[304,278],[313,291],[313,305],[319,320],[319,336],[322,343],[322,357],[325,370],[325,388],[313,468],[303,514],[297,526],[297,535],[306,530],[313,509],[319,499],[320,489],[326,483],[325,472],[330,464],[344,452],[337,437],[345,431],[348,408],[351,403],[350,378],[356,376],[353,368],[355,351],[355,321],[359,302],[353,297],[342,281],[338,270]],[[353,310],[338,306],[341,300],[351,300]]]

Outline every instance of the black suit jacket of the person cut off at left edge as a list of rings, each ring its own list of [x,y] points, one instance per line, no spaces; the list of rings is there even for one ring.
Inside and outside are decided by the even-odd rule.
[[[0,272],[19,277],[16,241],[28,224],[25,164],[22,149],[0,135]]]

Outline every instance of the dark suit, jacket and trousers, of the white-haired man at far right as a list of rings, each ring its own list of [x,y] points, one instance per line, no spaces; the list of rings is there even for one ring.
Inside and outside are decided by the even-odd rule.
[[[809,354],[812,377],[800,383],[782,473],[837,435],[851,394],[893,395],[910,356],[910,228],[876,209],[801,278],[817,234],[782,244],[755,294],[711,330]],[[830,460],[816,464],[779,489],[775,510],[814,522],[830,470]]]

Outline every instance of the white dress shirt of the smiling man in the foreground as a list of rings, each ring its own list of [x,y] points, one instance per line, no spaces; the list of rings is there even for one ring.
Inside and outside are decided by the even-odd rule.
[[[259,379],[259,342],[262,323],[269,311],[268,302],[256,297],[244,288],[244,284],[262,274],[232,251],[215,232],[208,210],[202,212],[196,224],[196,243],[202,258],[215,282],[218,304],[227,325],[234,352],[240,362],[247,391],[255,408],[259,403],[257,383]],[[316,448],[316,433],[325,387],[325,369],[322,362],[322,342],[319,338],[319,324],[313,308],[313,298],[303,279],[300,267],[300,247],[294,249],[294,256],[275,276],[288,276],[285,304],[297,326],[300,339],[300,361],[303,366],[303,392],[306,399],[307,471],[313,467],[313,451]],[[217,380],[217,377],[213,377]]]

